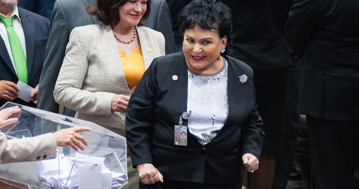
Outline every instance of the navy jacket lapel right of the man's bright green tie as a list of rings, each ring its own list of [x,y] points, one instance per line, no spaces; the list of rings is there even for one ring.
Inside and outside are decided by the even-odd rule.
[[[19,8],[18,14],[21,18],[21,23],[23,25],[25,41],[26,41],[26,61],[27,61],[27,72],[28,76],[33,64],[34,58],[34,49],[35,49],[35,28],[34,21],[28,14],[24,14],[23,11]]]

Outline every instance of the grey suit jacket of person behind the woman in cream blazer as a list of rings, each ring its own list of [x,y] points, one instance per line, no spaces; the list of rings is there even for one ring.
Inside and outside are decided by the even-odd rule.
[[[58,104],[55,102],[52,92],[65,57],[70,33],[77,26],[99,23],[96,16],[90,16],[85,9],[86,6],[91,7],[95,3],[96,0],[57,0],[55,2],[50,23],[49,42],[46,46],[44,71],[38,88],[38,108],[58,112]],[[145,26],[162,32],[166,39],[166,53],[174,52],[174,37],[165,0],[152,1],[151,13]],[[65,108],[64,114],[74,116],[75,111]]]

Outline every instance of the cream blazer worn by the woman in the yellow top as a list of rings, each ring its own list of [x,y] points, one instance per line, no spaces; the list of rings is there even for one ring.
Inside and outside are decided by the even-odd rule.
[[[154,58],[165,55],[165,38],[142,26],[137,36],[147,69]],[[75,110],[76,118],[125,136],[125,114],[111,111],[115,94],[131,96],[115,40],[103,23],[74,28],[53,95],[58,104]]]

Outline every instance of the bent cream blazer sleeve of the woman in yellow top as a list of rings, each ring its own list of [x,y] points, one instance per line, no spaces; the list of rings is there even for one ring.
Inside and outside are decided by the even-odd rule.
[[[85,77],[91,75],[90,72],[100,72],[89,68],[90,62],[101,63],[99,59],[89,58],[92,48],[88,44],[93,40],[93,37],[89,37],[91,32],[94,31],[86,32],[81,27],[72,30],[53,96],[59,104],[81,113],[112,115],[111,103],[115,93],[82,88]]]

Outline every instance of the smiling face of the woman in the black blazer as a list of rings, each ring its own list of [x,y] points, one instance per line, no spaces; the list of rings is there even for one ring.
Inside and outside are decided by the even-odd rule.
[[[198,74],[214,74],[223,67],[221,48],[225,48],[227,36],[222,39],[217,30],[204,30],[198,26],[185,31],[183,53],[187,66]]]

